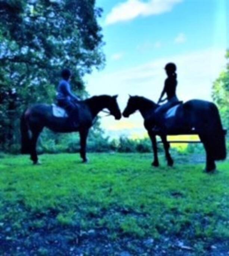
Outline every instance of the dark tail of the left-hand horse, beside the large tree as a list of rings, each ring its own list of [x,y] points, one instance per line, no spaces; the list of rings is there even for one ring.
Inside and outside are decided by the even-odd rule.
[[[30,153],[30,134],[29,127],[27,123],[27,113],[24,112],[21,116],[21,153],[29,154]]]

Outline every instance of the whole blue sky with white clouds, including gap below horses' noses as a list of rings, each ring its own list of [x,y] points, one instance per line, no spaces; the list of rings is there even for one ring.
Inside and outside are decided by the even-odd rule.
[[[211,87],[225,66],[229,47],[228,0],[97,0],[106,45],[106,66],[85,77],[95,94],[119,94],[120,108],[128,94],[157,101],[163,89],[164,66],[177,64],[180,100],[211,100]],[[102,118],[109,135],[143,136],[139,114],[114,121]]]

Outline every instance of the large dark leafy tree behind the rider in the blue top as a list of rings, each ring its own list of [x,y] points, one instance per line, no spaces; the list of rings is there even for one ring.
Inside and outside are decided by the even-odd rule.
[[[62,67],[80,96],[92,67],[104,63],[95,0],[0,1],[0,141],[18,143],[19,115],[30,103],[52,102]]]

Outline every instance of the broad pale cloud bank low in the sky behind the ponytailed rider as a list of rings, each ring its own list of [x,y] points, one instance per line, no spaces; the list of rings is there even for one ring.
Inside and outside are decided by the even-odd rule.
[[[208,48],[202,51],[189,52],[182,55],[170,55],[147,62],[143,65],[106,73],[96,72],[87,78],[87,90],[91,95],[119,94],[118,103],[121,111],[126,106],[128,94],[144,96],[154,101],[158,100],[166,78],[164,66],[172,61],[177,65],[177,96],[180,100],[204,99],[211,100],[211,88],[215,79],[226,65],[225,49]],[[143,119],[139,113],[131,115],[135,132],[143,133]],[[125,129],[125,119],[119,124],[120,133]],[[112,130],[117,124],[113,117],[102,118],[102,126]],[[122,129],[121,129],[122,127]],[[128,133],[128,134],[129,134]]]

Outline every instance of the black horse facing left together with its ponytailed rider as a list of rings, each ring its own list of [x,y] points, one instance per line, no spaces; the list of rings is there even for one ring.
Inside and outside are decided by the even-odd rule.
[[[216,169],[215,160],[226,158],[225,131],[219,111],[214,103],[205,100],[180,102],[176,95],[176,65],[168,63],[165,66],[165,72],[168,77],[158,103],[145,97],[130,96],[123,116],[129,117],[135,111],[140,111],[144,118],[144,126],[152,141],[153,166],[159,166],[156,135],[159,135],[163,142],[168,166],[172,166],[173,159],[169,153],[170,144],[167,142],[166,136],[198,134],[206,151],[205,170],[207,172],[214,171]],[[165,94],[167,97],[163,99]],[[158,105],[165,100],[167,100],[166,103]]]

